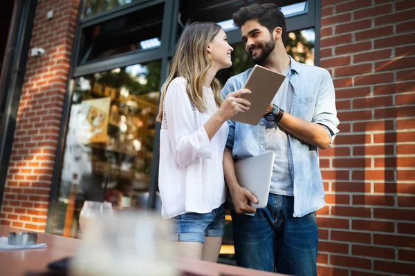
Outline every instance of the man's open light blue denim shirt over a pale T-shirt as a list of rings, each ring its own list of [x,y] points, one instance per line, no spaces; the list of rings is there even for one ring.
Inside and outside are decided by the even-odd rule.
[[[338,134],[339,120],[335,108],[335,92],[329,71],[317,66],[298,63],[292,57],[290,83],[294,88],[291,115],[321,124],[329,130],[331,142]],[[252,68],[231,77],[225,83],[222,97],[243,87]],[[226,146],[232,149],[234,160],[265,153],[264,118],[257,126],[228,121],[229,135]],[[323,180],[320,172],[317,147],[288,134],[288,167],[293,179],[294,217],[303,217],[322,208],[324,202]]]

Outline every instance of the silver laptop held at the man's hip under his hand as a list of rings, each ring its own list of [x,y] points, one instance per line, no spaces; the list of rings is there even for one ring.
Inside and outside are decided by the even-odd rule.
[[[250,202],[252,208],[264,208],[268,204],[274,158],[275,153],[268,152],[235,162],[239,186],[248,189],[258,199],[257,204]]]

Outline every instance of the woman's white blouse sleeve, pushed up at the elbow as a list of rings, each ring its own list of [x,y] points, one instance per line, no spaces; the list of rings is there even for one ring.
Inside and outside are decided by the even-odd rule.
[[[164,111],[167,133],[176,162],[186,167],[196,157],[212,159],[208,134],[203,126],[194,130],[192,103],[185,86],[178,80],[172,81],[167,88]]]

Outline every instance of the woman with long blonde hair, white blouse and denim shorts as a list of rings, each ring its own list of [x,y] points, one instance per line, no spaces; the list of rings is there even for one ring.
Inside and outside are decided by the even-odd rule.
[[[161,88],[158,121],[162,215],[170,219],[182,257],[216,262],[225,227],[223,150],[228,123],[250,103],[242,89],[225,101],[216,72],[232,66],[225,32],[194,22],[178,41],[172,70]]]

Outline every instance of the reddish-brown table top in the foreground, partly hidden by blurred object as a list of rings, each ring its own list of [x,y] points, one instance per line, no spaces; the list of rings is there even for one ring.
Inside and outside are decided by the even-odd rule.
[[[0,237],[8,237],[9,232],[30,232],[9,226],[0,226]],[[46,243],[47,248],[4,250],[0,251],[0,274],[5,276],[23,276],[25,273],[42,273],[47,270],[47,264],[64,257],[75,255],[77,248],[82,243],[81,239],[73,239],[57,235],[38,233],[37,243]],[[178,262],[181,271],[195,273],[203,276],[277,276],[275,273],[229,266],[226,264],[214,264],[192,259],[181,259]],[[282,275],[282,274],[279,274]]]

